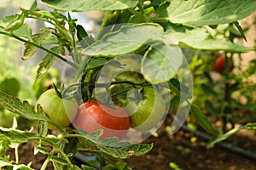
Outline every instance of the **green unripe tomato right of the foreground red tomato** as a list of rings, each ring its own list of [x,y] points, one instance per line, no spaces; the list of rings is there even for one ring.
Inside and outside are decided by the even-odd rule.
[[[130,127],[139,131],[148,131],[156,127],[166,113],[166,103],[157,89],[143,88],[143,99],[130,102],[126,110],[130,114]]]

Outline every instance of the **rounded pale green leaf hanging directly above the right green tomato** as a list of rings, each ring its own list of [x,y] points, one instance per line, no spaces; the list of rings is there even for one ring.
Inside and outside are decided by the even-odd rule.
[[[151,83],[170,80],[183,63],[183,52],[177,46],[164,43],[152,45],[143,57],[142,73]]]

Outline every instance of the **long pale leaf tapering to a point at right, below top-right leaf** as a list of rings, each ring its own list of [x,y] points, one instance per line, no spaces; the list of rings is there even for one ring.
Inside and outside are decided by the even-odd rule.
[[[207,32],[206,28],[195,28],[191,30],[184,26],[172,26],[166,32],[166,37],[169,37],[175,44],[184,48],[228,52],[248,52],[252,50],[252,48],[246,48],[226,39],[213,38]]]

